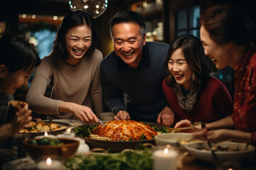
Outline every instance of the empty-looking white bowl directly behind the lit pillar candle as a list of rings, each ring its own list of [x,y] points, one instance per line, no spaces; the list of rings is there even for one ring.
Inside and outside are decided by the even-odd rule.
[[[160,135],[156,135],[154,137],[156,146],[163,146],[163,145],[168,145],[168,144],[176,146],[176,142],[180,142],[181,145],[184,146],[189,143],[201,142],[201,140],[191,140],[186,143],[186,140],[190,140],[192,138],[193,138],[193,135],[191,135],[191,133],[183,133],[183,132],[163,133]]]

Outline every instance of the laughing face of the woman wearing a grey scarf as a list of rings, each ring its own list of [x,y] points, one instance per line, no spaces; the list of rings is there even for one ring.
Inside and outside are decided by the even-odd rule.
[[[168,69],[183,89],[189,91],[192,84],[192,69],[188,66],[181,48],[175,50],[169,58]]]

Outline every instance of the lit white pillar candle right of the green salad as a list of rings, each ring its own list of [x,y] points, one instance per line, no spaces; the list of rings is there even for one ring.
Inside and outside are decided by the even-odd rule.
[[[177,152],[165,148],[163,150],[156,150],[153,153],[153,167],[154,170],[176,170]]]

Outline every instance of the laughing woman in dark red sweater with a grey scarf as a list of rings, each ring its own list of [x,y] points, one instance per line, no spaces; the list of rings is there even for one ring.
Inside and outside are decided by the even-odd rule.
[[[210,123],[232,113],[232,98],[225,85],[210,76],[210,66],[198,38],[176,38],[169,47],[166,66],[169,76],[162,86],[175,113],[174,123],[182,119]]]

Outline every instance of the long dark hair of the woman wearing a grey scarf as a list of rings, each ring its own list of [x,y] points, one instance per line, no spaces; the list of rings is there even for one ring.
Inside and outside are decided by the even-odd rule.
[[[201,41],[193,35],[181,35],[176,38],[169,47],[169,51],[166,57],[166,67],[168,68],[168,63],[171,55],[178,48],[182,49],[186,62],[188,66],[192,69],[193,84],[201,84],[206,77],[210,74],[210,64],[204,54],[203,45]],[[175,78],[172,76],[171,72],[168,72],[166,77],[166,84],[173,86],[176,83]],[[197,86],[197,85],[196,85]]]

